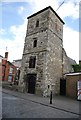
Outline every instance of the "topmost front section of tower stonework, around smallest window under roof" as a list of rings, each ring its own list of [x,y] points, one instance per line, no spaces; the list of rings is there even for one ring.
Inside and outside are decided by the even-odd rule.
[[[27,36],[39,33],[48,28],[49,9],[28,19]],[[36,21],[39,20],[39,27],[36,27]]]

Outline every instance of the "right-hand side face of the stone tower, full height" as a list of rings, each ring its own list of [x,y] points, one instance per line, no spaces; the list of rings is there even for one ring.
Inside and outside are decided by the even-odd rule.
[[[55,28],[55,20],[57,20],[57,29]],[[46,56],[46,68],[45,74],[45,91],[49,89],[53,91],[53,94],[59,94],[60,89],[60,77],[62,77],[62,37],[63,33],[59,33],[60,27],[63,28],[63,24],[54,15],[52,11],[49,12],[49,29],[48,29],[48,43],[47,43],[47,56]],[[49,93],[48,93],[49,95]]]

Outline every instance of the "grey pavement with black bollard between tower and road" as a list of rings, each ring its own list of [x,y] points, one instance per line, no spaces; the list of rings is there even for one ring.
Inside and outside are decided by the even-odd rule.
[[[68,98],[66,96],[54,96],[52,99],[52,104],[50,104],[49,97],[38,96],[35,94],[29,93],[20,93],[14,90],[2,89],[3,93],[11,94],[13,96],[19,97],[21,99],[29,100],[38,104],[42,104],[44,106],[52,107],[55,109],[63,110],[66,112],[70,112],[73,114],[77,114],[81,116],[80,113],[80,104],[81,101],[77,101],[75,99]]]

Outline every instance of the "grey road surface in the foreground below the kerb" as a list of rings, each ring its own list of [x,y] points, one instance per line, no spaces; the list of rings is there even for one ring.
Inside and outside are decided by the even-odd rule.
[[[17,93],[18,94],[18,93]],[[32,95],[29,95],[32,96]],[[34,96],[34,95],[33,95]],[[32,97],[33,97],[32,96]],[[77,113],[54,108],[31,99],[21,98],[3,92],[2,94],[3,118],[78,118]]]

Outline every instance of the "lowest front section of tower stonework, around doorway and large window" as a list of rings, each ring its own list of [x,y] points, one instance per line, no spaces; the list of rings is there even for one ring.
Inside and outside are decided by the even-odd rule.
[[[29,68],[29,58],[30,56],[36,56],[36,67],[35,68]],[[43,89],[44,89],[44,64],[46,63],[46,52],[37,52],[37,53],[31,53],[31,54],[27,54],[25,55],[25,57],[23,58],[24,61],[24,67],[22,66],[22,70],[23,74],[21,74],[21,80],[23,79],[24,81],[24,77],[27,74],[31,74],[31,73],[35,73],[37,74],[37,78],[36,78],[36,93],[38,94],[38,91],[40,92],[40,94],[43,94]],[[26,86],[24,86],[26,87]]]

